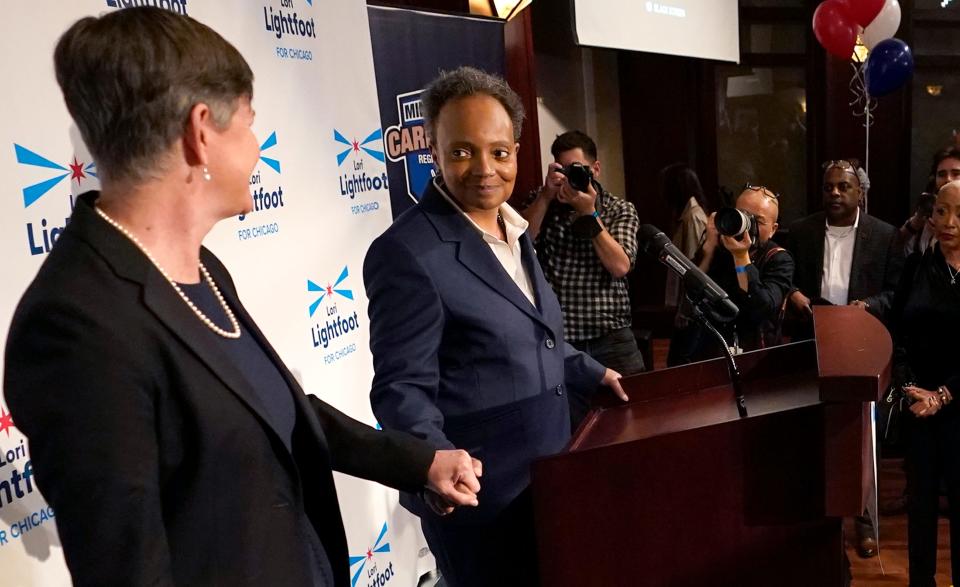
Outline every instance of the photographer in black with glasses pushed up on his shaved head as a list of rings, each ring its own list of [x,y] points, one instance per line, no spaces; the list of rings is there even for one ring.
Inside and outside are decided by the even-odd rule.
[[[732,324],[719,325],[718,329],[731,347],[749,351],[780,343],[783,302],[793,280],[793,257],[770,240],[779,226],[780,206],[775,193],[747,184],[737,197],[736,210],[740,214],[723,208],[710,215],[706,239],[695,261],[740,308]],[[737,223],[742,223],[742,231],[730,230],[730,225]],[[701,361],[721,353],[719,343],[699,324],[691,325],[690,331],[678,332],[671,341],[671,364]]]

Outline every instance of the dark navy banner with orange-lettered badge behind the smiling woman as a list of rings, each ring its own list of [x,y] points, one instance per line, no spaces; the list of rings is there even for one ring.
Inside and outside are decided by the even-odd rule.
[[[370,36],[390,202],[397,216],[434,175],[420,93],[444,70],[472,65],[503,75],[503,21],[371,6]]]

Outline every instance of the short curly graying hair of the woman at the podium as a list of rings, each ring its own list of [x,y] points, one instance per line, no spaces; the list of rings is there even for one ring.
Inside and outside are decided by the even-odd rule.
[[[423,90],[420,100],[423,105],[424,124],[427,136],[433,141],[436,136],[437,118],[448,103],[467,96],[486,95],[503,106],[513,122],[513,140],[520,140],[523,126],[523,102],[500,76],[481,71],[475,67],[461,66],[452,71],[442,71]]]

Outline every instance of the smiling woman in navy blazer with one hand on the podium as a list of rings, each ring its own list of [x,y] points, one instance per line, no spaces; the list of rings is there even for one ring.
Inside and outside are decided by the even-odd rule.
[[[564,341],[527,222],[507,204],[520,98],[502,79],[462,67],[422,99],[439,173],[364,261],[370,401],[385,428],[484,462],[480,506],[469,512],[440,517],[421,496],[401,495],[446,584],[535,586],[530,463],[569,439],[572,389],[602,382],[626,395],[618,373]]]

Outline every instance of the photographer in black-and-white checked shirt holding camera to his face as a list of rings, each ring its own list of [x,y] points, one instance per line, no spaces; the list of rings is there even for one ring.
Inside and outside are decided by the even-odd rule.
[[[600,185],[597,146],[580,131],[559,135],[542,187],[521,211],[537,259],[563,308],[567,340],[624,376],[643,370],[630,329],[627,273],[637,257],[640,221],[633,204]],[[590,398],[571,393],[576,427]]]

